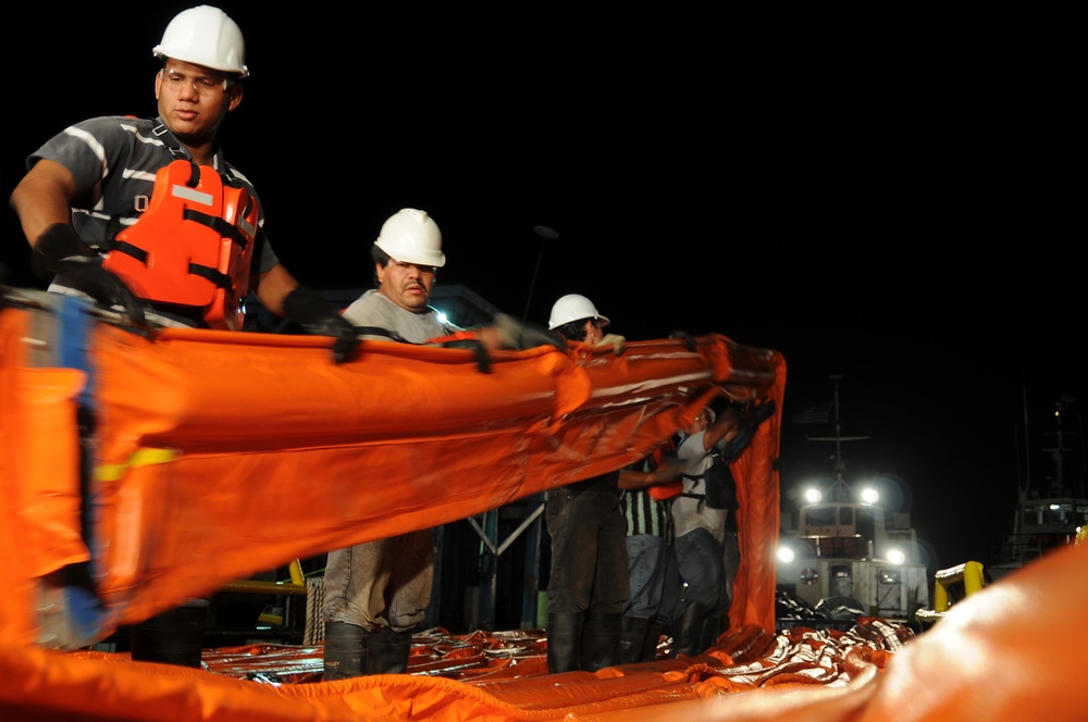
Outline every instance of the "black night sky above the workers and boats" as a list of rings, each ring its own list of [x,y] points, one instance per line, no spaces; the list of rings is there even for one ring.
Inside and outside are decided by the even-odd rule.
[[[67,124],[154,113],[151,47],[189,4],[26,11],[35,30],[0,43],[4,198]],[[1062,395],[1086,398],[1088,308],[1062,172],[1074,99],[1037,72],[1060,49],[928,28],[798,41],[696,15],[220,7],[252,73],[221,138],[307,285],[368,287],[382,221],[416,207],[444,234],[440,283],[515,315],[546,323],[580,292],[630,339],[777,349],[783,498],[832,470],[806,439],[831,428],[790,420],[841,374],[843,432],[869,437],[843,446],[848,481],[901,480],[935,568],[987,561],[1017,483],[1051,472],[1041,434]],[[3,224],[9,283],[39,286],[10,209]],[[1076,448],[1065,476],[1083,483]]]

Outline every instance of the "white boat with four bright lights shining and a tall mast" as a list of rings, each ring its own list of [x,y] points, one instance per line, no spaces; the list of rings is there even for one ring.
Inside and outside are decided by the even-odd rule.
[[[842,445],[867,437],[842,433],[841,378],[831,376],[833,436],[809,437],[834,444],[833,477],[804,489],[795,516],[783,513],[776,574],[780,628],[798,617],[809,624],[860,615],[913,624],[915,612],[929,605],[926,560],[910,513],[889,513],[876,487],[846,482]]]

